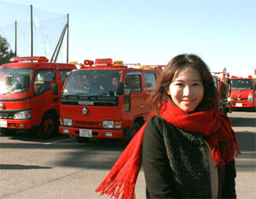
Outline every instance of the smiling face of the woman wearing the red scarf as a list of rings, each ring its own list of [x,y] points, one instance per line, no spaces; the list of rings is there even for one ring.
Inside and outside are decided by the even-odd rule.
[[[204,87],[201,76],[191,67],[183,67],[178,71],[167,92],[177,107],[186,113],[192,112],[201,103]]]

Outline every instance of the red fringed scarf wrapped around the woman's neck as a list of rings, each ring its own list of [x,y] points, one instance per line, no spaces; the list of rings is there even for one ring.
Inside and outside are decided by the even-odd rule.
[[[150,117],[154,116],[151,114]],[[212,149],[212,159],[216,165],[234,160],[234,154],[241,154],[236,135],[231,128],[230,119],[217,111],[200,111],[186,114],[171,102],[165,101],[160,109],[160,116],[173,126],[185,131],[197,132],[205,135],[207,143]],[[143,133],[146,123],[137,132],[135,137],[119,156],[107,177],[96,189],[103,194],[114,196],[116,199],[122,194],[121,199],[135,198],[135,184],[137,174],[142,163]]]

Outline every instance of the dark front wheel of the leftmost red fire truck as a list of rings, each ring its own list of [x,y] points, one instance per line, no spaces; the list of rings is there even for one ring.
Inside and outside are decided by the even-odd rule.
[[[56,129],[58,129],[57,117],[55,115],[46,113],[41,124],[40,133],[49,138],[56,133]]]

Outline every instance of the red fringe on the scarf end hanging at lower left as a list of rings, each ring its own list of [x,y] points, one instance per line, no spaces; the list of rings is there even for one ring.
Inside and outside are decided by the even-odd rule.
[[[115,199],[118,199],[120,195],[120,199],[135,198],[135,184],[116,179],[104,179],[95,191],[101,192],[100,196],[106,194],[111,195],[110,197],[114,196]]]

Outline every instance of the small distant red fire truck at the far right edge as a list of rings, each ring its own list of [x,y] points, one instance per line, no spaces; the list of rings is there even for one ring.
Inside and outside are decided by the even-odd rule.
[[[256,111],[256,79],[248,77],[231,77],[232,109],[249,108]]]

